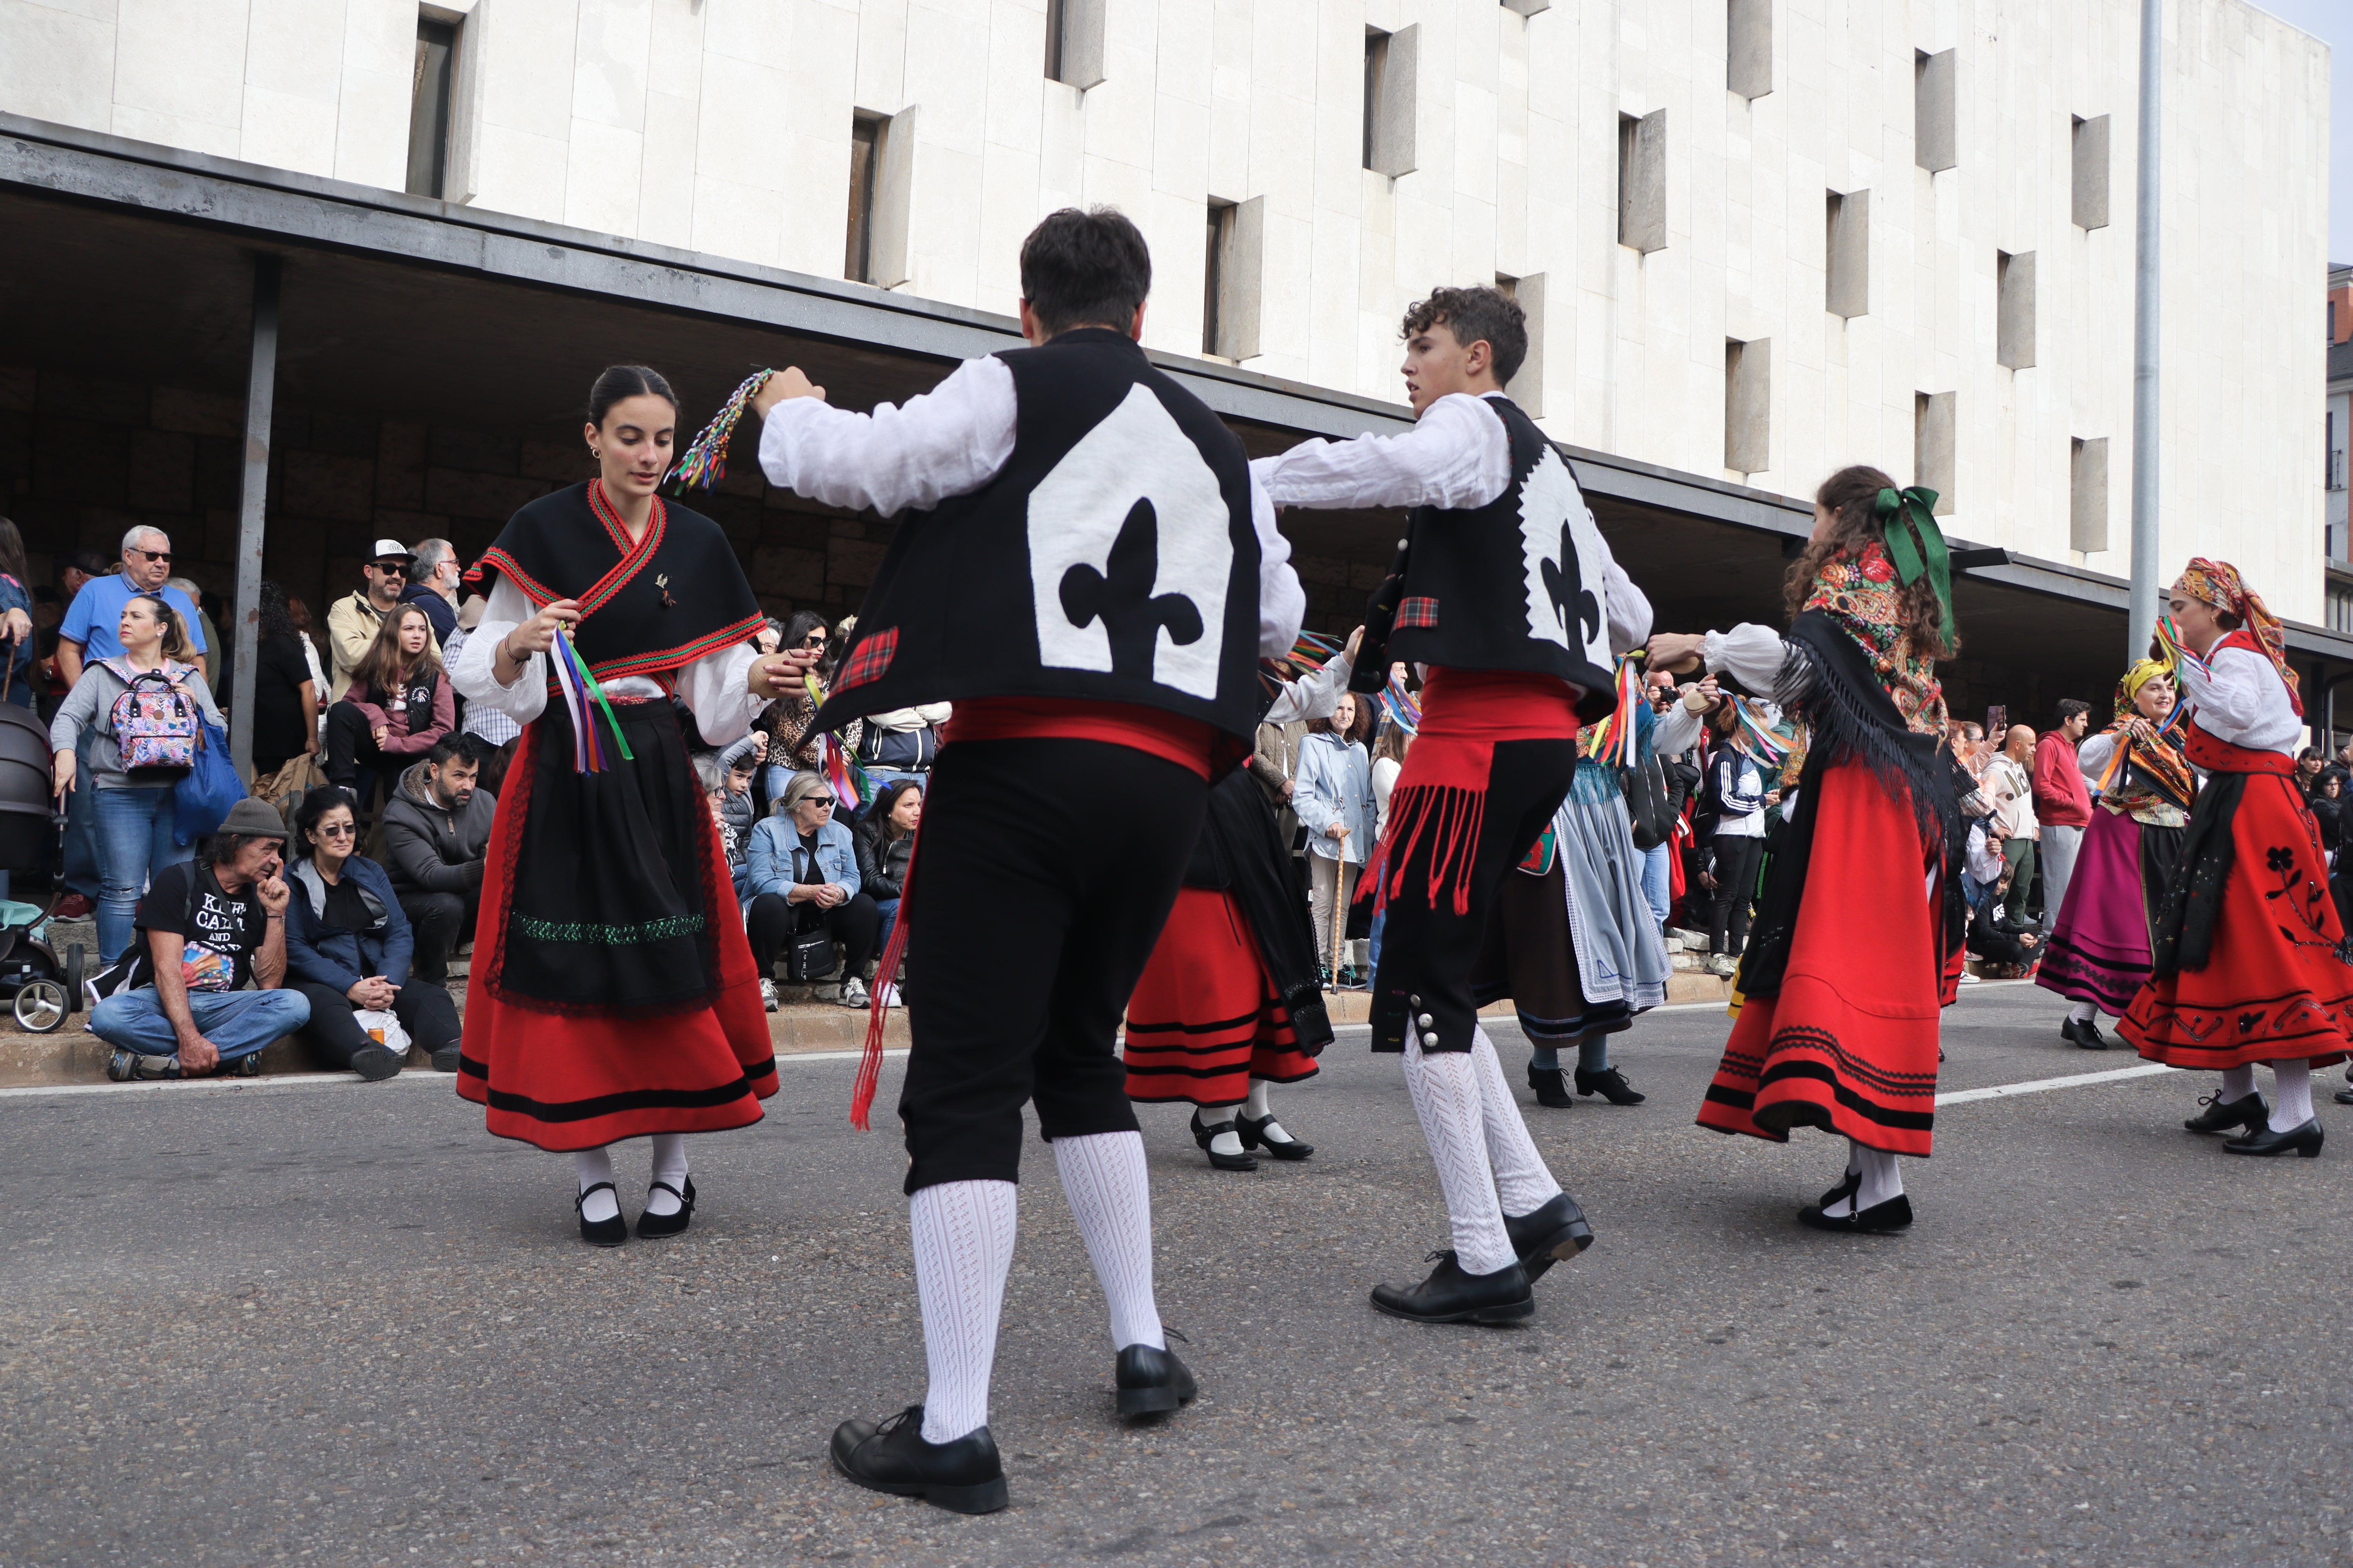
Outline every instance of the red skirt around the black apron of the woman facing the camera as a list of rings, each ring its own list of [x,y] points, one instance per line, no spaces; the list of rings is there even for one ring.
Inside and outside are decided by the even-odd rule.
[[[633,722],[628,708],[621,710]],[[640,757],[616,769],[680,769],[682,778],[642,780],[640,795],[666,790],[701,797],[685,752],[647,748],[635,731]],[[482,867],[482,912],[475,926],[473,971],[466,980],[466,1030],[459,1053],[459,1095],[485,1107],[499,1138],[518,1138],[541,1150],[595,1150],[647,1133],[718,1133],[760,1119],[760,1100],[776,1093],[776,1051],[760,1004],[760,976],[751,959],[744,922],[736,917],[727,856],[708,811],[689,813],[694,835],[678,858],[694,858],[687,875],[701,882],[701,910],[713,926],[718,990],[708,1004],[661,1016],[598,1016],[586,1009],[544,1011],[501,999],[494,976],[506,919],[522,875],[525,825],[539,778],[539,750],[569,745],[569,726],[541,719],[522,729],[522,745],[508,766],[508,790],[489,835]],[[548,851],[541,851],[548,853]],[[572,853],[598,853],[576,844]]]

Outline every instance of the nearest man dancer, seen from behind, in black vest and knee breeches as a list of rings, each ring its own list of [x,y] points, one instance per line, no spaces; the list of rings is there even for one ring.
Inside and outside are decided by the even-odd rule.
[[[871,416],[795,369],[755,397],[774,484],[904,512],[814,729],[955,703],[899,910],[922,943],[899,1119],[932,1382],[882,1425],[842,1422],[833,1462],[960,1512],[1005,1507],[988,1371],[1024,1100],[1104,1284],[1120,1415],[1193,1396],[1153,1302],[1113,1037],[1209,778],[1249,755],[1257,661],[1292,646],[1306,597],[1242,444],[1136,346],[1148,292],[1134,223],[1064,209],[1021,244],[1031,348]],[[1073,837],[1104,799],[1148,830]]]

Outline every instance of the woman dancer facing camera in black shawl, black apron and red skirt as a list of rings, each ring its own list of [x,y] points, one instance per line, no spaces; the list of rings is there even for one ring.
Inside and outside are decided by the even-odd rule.
[[[574,1154],[581,1239],[598,1246],[628,1237],[609,1143],[652,1135],[638,1234],[678,1234],[694,1213],[685,1133],[758,1121],[776,1093],[671,696],[727,743],[807,656],[755,654],[760,604],[720,527],[654,494],[675,425],[654,371],[598,376],[600,473],[515,512],[468,574],[489,581],[489,607],[452,670],[466,701],[525,724],[482,872],[459,1093],[492,1133]]]

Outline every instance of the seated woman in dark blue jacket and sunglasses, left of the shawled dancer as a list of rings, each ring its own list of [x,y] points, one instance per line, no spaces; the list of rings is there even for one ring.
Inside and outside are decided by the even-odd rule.
[[[393,879],[360,849],[351,795],[311,790],[294,809],[294,898],[287,905],[287,990],[311,1004],[301,1041],[327,1070],[367,1081],[400,1072],[400,1053],[360,1027],[358,1011],[391,1013],[440,1072],[456,1072],[456,1004],[440,985],[409,983],[414,933]]]

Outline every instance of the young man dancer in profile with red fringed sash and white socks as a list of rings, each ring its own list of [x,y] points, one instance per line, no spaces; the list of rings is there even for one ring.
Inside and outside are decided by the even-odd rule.
[[[1612,703],[1612,656],[1649,637],[1560,454],[1508,397],[1527,317],[1494,289],[1435,289],[1405,313],[1407,435],[1304,442],[1254,470],[1275,505],[1407,505],[1388,649],[1428,665],[1421,731],[1365,867],[1388,926],[1372,1048],[1405,1086],[1438,1161],[1454,1248],[1372,1305],[1424,1324],[1537,1309],[1529,1284],[1593,1241],[1520,1121],[1471,971],[1497,891],[1569,790],[1579,719]]]

